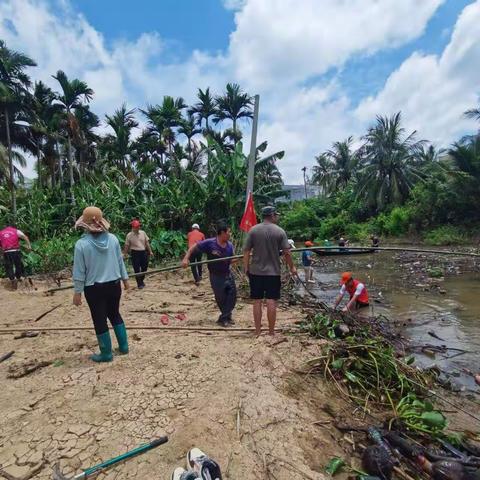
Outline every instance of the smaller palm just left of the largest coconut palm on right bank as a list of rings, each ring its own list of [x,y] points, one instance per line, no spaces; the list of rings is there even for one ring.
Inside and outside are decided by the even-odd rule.
[[[354,178],[359,158],[352,144],[353,137],[348,137],[315,158],[317,165],[313,167],[312,182],[321,185],[325,193],[343,190]]]

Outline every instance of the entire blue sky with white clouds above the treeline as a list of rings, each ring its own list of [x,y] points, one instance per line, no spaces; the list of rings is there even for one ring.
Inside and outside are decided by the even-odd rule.
[[[101,118],[227,82],[259,93],[259,141],[285,150],[289,183],[376,115],[401,111],[439,147],[477,129],[462,113],[479,103],[479,24],[480,0],[0,1],[0,38],[32,77],[85,80]]]

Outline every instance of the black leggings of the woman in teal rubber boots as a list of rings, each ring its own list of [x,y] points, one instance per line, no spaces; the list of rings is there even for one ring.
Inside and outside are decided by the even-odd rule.
[[[120,315],[120,297],[122,287],[120,280],[106,283],[95,283],[85,287],[85,299],[90,307],[95,333],[101,335],[108,332],[107,318],[112,325],[123,323]]]

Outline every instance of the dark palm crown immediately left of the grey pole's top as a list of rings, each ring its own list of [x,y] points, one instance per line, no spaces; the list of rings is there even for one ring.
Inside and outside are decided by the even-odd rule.
[[[227,83],[224,95],[215,97],[217,112],[213,119],[217,124],[223,120],[231,120],[233,131],[237,131],[237,121],[241,118],[252,118],[252,98],[236,83]],[[235,140],[235,145],[237,141]]]

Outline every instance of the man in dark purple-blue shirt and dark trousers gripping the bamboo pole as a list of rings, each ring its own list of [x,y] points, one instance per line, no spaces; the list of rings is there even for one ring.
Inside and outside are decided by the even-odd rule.
[[[182,266],[187,268],[192,256],[198,253],[206,253],[209,260],[218,260],[232,257],[233,251],[233,245],[230,242],[230,228],[222,222],[217,225],[216,237],[195,243],[188,249],[183,257]],[[231,263],[232,260],[229,259],[208,264],[210,285],[221,312],[217,323],[222,327],[228,327],[235,323],[232,319],[232,312],[237,303],[237,287],[230,270]]]

